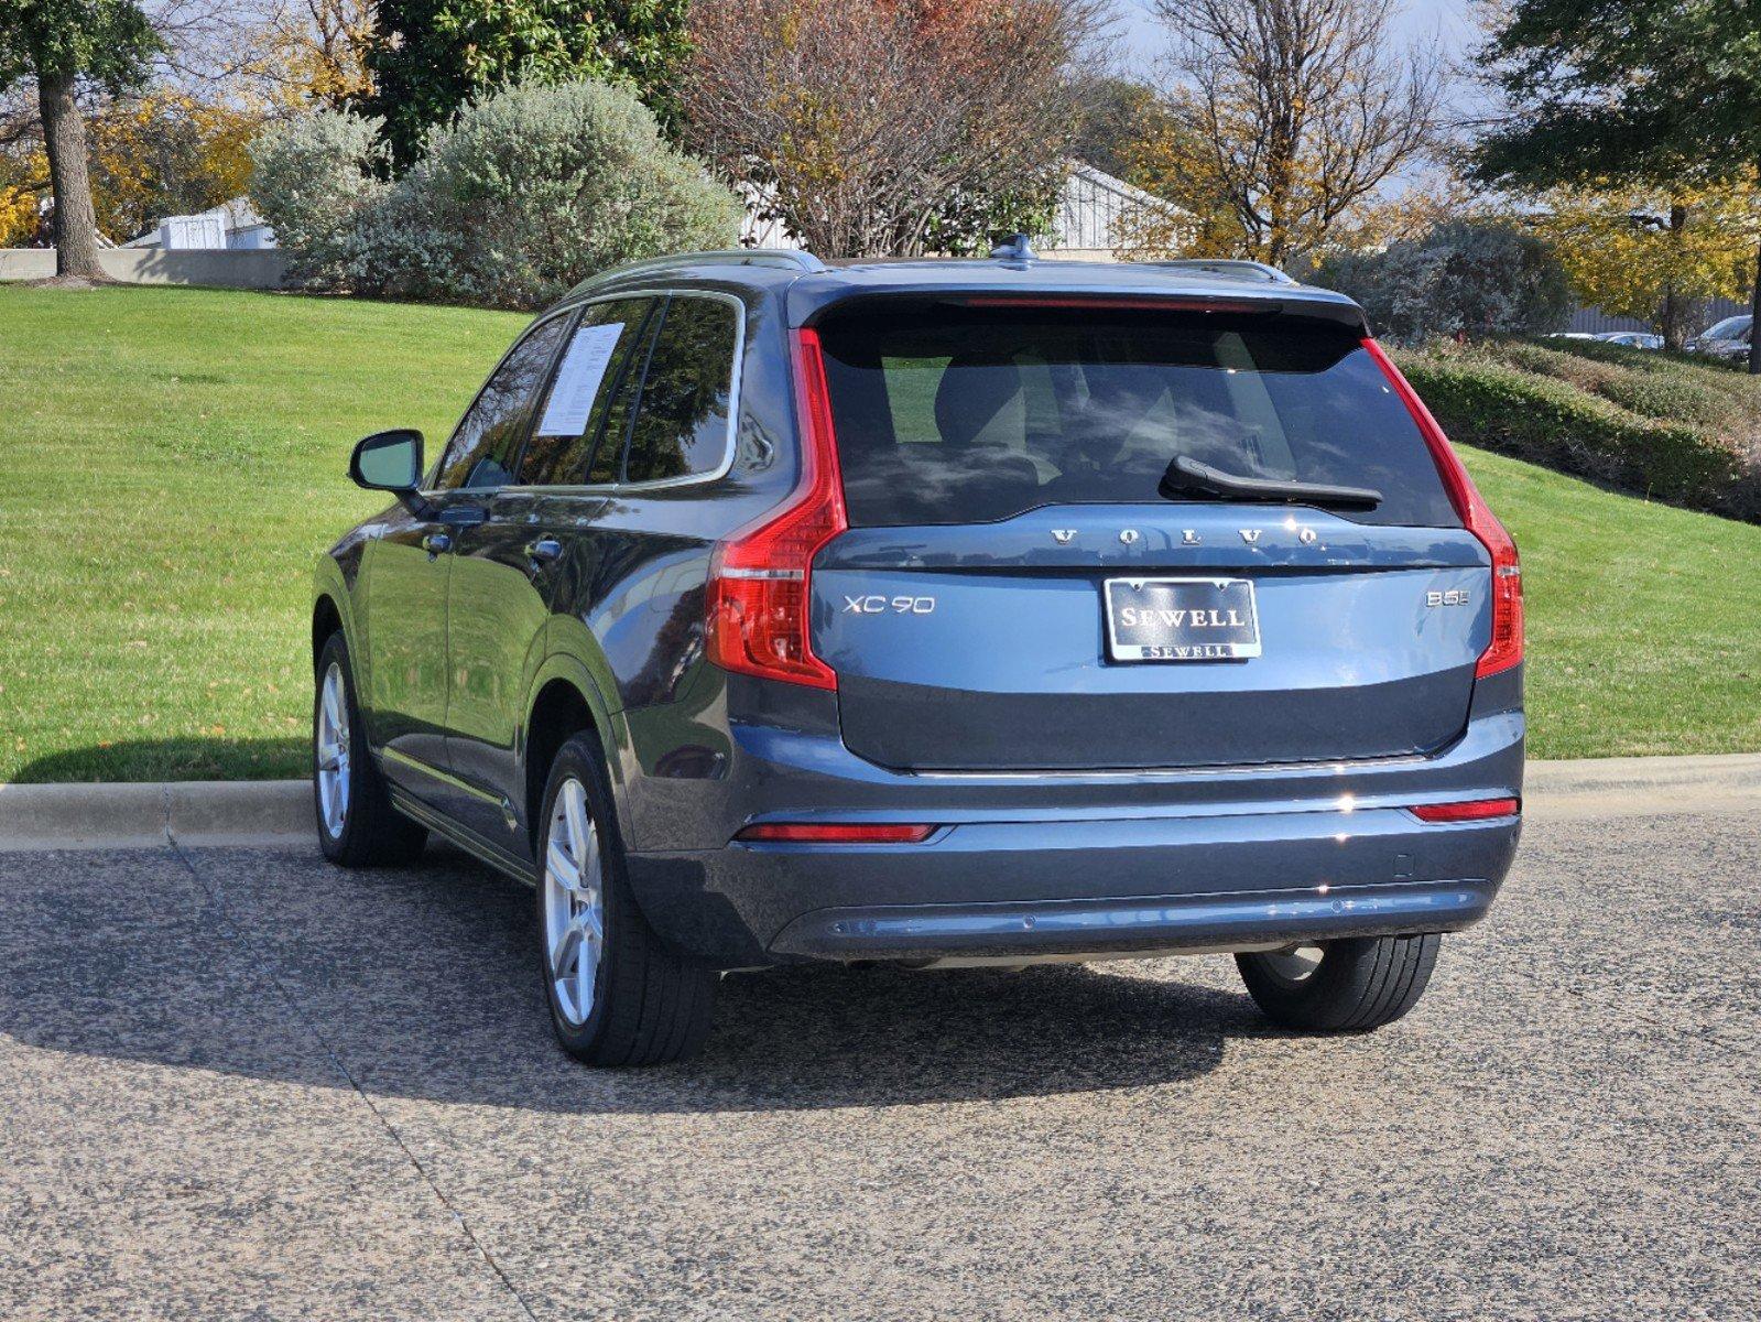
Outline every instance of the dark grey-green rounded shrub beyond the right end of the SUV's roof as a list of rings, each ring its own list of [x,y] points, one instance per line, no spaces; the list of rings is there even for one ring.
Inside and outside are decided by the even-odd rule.
[[[1548,243],[1514,226],[1451,220],[1382,252],[1335,254],[1315,284],[1356,298],[1377,333],[1530,335],[1564,324],[1571,286]]]

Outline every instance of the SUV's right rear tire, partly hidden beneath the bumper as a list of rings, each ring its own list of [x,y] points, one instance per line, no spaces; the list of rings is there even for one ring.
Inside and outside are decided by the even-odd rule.
[[[1440,945],[1437,932],[1363,936],[1294,954],[1243,954],[1234,964],[1273,1022],[1314,1033],[1368,1033],[1418,1003]]]

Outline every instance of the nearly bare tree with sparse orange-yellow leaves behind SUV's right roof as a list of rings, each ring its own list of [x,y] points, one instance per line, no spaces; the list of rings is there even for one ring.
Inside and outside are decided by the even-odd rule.
[[[1393,0],[1155,0],[1173,37],[1169,173],[1224,199],[1236,256],[1284,264],[1433,141],[1442,65],[1393,53]]]

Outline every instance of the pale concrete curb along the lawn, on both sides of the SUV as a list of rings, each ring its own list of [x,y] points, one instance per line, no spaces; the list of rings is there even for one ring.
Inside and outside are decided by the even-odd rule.
[[[1525,816],[1761,809],[1761,753],[1530,761]],[[313,843],[310,781],[0,784],[0,851]]]

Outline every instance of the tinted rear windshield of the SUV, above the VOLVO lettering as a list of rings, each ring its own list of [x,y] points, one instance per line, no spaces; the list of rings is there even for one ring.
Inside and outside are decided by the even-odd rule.
[[[821,344],[858,527],[1162,502],[1178,455],[1379,490],[1375,509],[1338,511],[1359,522],[1460,527],[1412,416],[1345,328],[944,305],[833,316]]]

